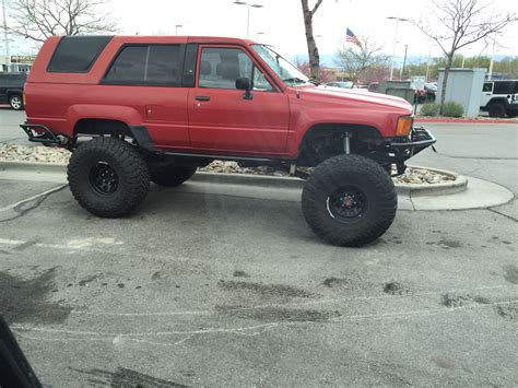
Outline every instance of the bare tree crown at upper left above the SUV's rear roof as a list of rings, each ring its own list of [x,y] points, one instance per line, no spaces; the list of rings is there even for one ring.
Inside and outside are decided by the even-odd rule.
[[[14,0],[8,32],[34,42],[51,35],[113,33],[105,0]]]

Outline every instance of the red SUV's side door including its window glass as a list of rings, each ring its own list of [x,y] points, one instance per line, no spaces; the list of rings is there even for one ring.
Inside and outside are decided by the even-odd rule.
[[[283,154],[287,96],[276,90],[239,46],[200,45],[195,87],[189,90],[191,146],[205,152]],[[236,89],[248,78],[250,96]]]

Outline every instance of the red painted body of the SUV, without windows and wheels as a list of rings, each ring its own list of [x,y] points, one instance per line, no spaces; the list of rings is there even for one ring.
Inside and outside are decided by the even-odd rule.
[[[69,138],[84,119],[143,126],[157,150],[293,160],[305,133],[330,124],[374,128],[393,138],[398,119],[412,114],[405,101],[381,94],[306,84],[286,85],[251,49],[254,42],[223,37],[115,36],[87,72],[49,72],[61,37],[43,45],[25,84],[27,122]],[[131,44],[198,44],[193,87],[103,84],[121,47]],[[239,48],[273,85],[273,92],[199,87],[200,55],[207,47]],[[209,101],[198,101],[197,96]],[[267,114],[266,114],[267,113]]]

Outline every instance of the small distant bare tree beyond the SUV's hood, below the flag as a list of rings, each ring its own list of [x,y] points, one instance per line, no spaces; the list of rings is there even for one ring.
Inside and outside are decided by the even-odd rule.
[[[362,47],[342,44],[337,52],[337,64],[348,75],[357,83],[358,79],[373,69],[384,68],[388,57],[381,54],[381,46],[373,42],[368,36],[360,39]]]

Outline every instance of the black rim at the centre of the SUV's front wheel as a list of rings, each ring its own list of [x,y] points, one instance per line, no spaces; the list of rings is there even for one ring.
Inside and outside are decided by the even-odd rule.
[[[356,186],[341,187],[328,197],[327,208],[329,215],[337,221],[356,221],[367,210],[367,196]]]

